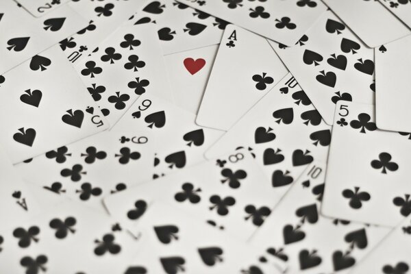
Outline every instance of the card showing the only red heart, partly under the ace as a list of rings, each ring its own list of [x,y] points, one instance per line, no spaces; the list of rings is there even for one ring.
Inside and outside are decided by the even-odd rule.
[[[197,114],[219,45],[164,56],[175,104]]]

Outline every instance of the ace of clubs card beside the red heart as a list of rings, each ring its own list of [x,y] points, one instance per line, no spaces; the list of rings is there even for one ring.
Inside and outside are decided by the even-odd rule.
[[[229,25],[221,41],[196,121],[228,130],[287,69],[265,38],[245,29]]]

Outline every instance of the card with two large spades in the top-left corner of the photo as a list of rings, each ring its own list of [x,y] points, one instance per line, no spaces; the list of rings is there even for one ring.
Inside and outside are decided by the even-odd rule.
[[[86,20],[68,5],[34,18],[14,1],[1,1],[0,75],[86,25]]]

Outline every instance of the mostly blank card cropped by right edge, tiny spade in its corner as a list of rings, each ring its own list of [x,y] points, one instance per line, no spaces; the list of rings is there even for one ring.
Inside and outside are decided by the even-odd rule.
[[[411,132],[408,88],[411,36],[375,49],[375,115],[379,129]]]

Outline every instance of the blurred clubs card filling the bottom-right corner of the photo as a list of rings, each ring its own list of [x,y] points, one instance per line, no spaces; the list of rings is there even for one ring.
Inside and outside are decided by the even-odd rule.
[[[409,273],[411,267],[411,221],[410,217],[402,221],[393,232],[364,260],[353,269],[353,274],[364,273]]]

